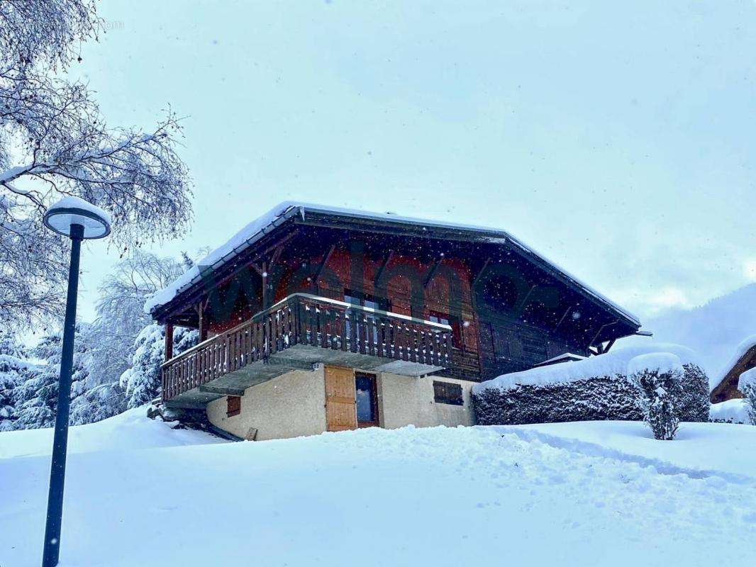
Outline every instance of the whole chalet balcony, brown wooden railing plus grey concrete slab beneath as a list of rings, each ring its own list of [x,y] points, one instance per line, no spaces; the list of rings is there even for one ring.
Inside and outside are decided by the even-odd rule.
[[[421,376],[451,364],[451,327],[295,293],[163,364],[163,401],[204,407],[317,363]]]

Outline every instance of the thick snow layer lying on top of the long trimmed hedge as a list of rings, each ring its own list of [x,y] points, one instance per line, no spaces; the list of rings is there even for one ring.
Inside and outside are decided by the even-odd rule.
[[[522,372],[502,374],[493,380],[488,380],[472,386],[472,391],[479,393],[485,389],[510,390],[518,386],[549,386],[553,384],[568,384],[578,380],[586,380],[595,376],[626,375],[628,366],[634,358],[654,353],[668,353],[675,355],[680,364],[699,364],[696,353],[685,346],[667,343],[649,343],[648,345],[628,346],[614,349],[604,355],[591,356],[582,361],[569,364],[550,364],[539,366]],[[662,366],[674,359],[650,357],[647,361],[652,365]],[[677,364],[677,360],[674,360]],[[634,362],[635,365],[637,361]]]

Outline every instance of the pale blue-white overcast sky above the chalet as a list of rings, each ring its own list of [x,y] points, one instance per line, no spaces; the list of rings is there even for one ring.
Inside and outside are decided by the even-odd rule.
[[[100,13],[110,124],[186,116],[194,226],[160,253],[305,200],[503,228],[641,318],[756,280],[752,0]],[[88,244],[81,318],[116,257]]]

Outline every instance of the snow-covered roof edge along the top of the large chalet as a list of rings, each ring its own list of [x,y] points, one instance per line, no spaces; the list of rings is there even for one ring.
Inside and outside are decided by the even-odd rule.
[[[634,314],[625,310],[620,305],[617,305],[615,302],[612,302],[611,299],[603,296],[596,290],[593,290],[586,283],[578,280],[577,277],[569,274],[569,272],[563,270],[559,267],[559,265],[556,265],[556,263],[552,262],[550,259],[547,259],[542,254],[537,253],[534,249],[526,246],[511,234],[498,228],[487,228],[475,225],[442,222],[428,218],[400,216],[395,215],[391,212],[367,212],[358,209],[345,209],[342,207],[324,206],[312,203],[296,203],[293,201],[284,201],[283,203],[274,206],[274,208],[266,212],[265,215],[262,215],[261,217],[256,218],[253,222],[250,222],[249,225],[246,225],[244,228],[238,231],[237,234],[234,234],[234,236],[231,237],[228,242],[213,250],[204,259],[200,260],[200,262],[197,262],[197,265],[194,265],[192,268],[184,272],[184,274],[174,280],[164,290],[155,293],[153,296],[147,299],[147,302],[145,302],[144,304],[144,311],[151,313],[156,308],[171,302],[172,299],[178,296],[179,293],[187,290],[189,287],[199,282],[201,280],[201,274],[203,274],[204,271],[210,268],[218,268],[220,265],[228,262],[229,260],[234,258],[234,256],[237,256],[237,254],[249,248],[249,246],[252,246],[253,243],[259,240],[262,236],[268,234],[288,218],[291,218],[294,215],[301,215],[302,219],[304,219],[307,213],[341,215],[350,218],[363,218],[380,222],[393,222],[402,225],[415,225],[417,227],[425,228],[457,229],[460,231],[477,233],[482,240],[491,243],[511,243],[514,246],[519,247],[526,253],[530,254],[531,256],[535,256],[538,259],[541,259],[541,261],[547,262],[547,264],[551,265],[554,269],[556,269],[556,271],[559,271],[559,273],[562,274],[562,277],[571,280],[577,287],[581,288],[584,293],[592,296],[594,299],[598,300],[604,305],[609,306],[613,310],[618,311],[618,313],[624,315],[625,318],[633,321],[635,324],[640,325],[640,319],[638,319]]]

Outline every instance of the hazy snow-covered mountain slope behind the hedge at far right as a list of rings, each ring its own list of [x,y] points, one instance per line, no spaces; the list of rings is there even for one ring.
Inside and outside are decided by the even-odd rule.
[[[697,308],[668,311],[644,321],[643,329],[652,331],[653,339],[622,339],[618,345],[649,340],[685,345],[698,353],[710,385],[716,386],[740,342],[756,334],[756,283]]]

